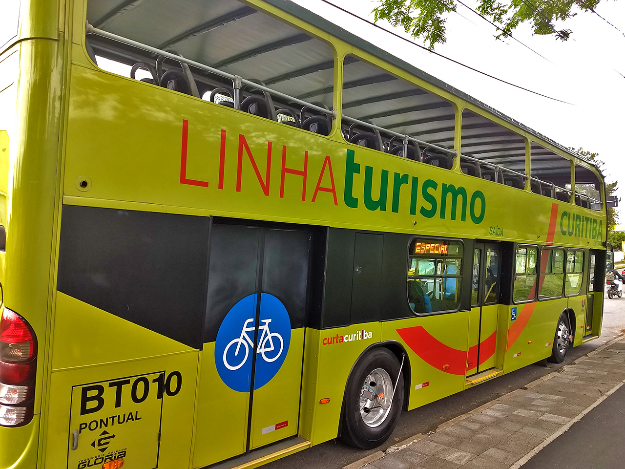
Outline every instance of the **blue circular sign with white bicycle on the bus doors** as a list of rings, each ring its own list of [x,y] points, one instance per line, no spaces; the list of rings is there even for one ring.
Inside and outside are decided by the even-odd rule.
[[[251,388],[257,294],[232,306],[219,326],[215,365],[226,386],[242,393]],[[291,343],[291,320],[282,302],[261,293],[254,389],[262,388],[282,367]]]

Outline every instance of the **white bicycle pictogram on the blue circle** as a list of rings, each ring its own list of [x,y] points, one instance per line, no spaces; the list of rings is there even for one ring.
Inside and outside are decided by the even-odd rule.
[[[250,325],[251,323],[251,325]],[[260,353],[262,359],[267,361],[267,363],[271,363],[272,361],[276,361],[282,355],[282,349],[284,348],[284,340],[282,340],[282,336],[277,332],[269,331],[269,323],[271,323],[271,319],[263,319],[261,320],[262,325],[258,326],[258,348],[256,349],[256,353]],[[245,321],[243,327],[241,329],[241,335],[231,340],[226,348],[224,348],[224,365],[228,370],[238,370],[243,366],[247,358],[249,357],[249,349],[250,347],[254,348],[254,341],[249,336],[249,332],[254,334],[254,319],[250,318]],[[279,342],[279,347],[276,346],[277,342]],[[228,350],[230,350],[231,346],[236,344],[236,350],[234,350],[234,356],[239,358],[239,352],[241,352],[241,346],[244,348],[244,352],[241,353],[240,361],[237,360],[236,365],[232,365],[229,363],[227,359]],[[275,352],[277,353],[270,353]]]

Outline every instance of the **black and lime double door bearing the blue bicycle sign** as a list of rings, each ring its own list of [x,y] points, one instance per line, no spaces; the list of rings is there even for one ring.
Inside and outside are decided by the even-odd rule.
[[[297,434],[311,231],[211,226],[193,467]]]

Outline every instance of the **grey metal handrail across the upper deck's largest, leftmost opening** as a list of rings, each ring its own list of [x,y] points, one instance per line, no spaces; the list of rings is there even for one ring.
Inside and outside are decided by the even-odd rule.
[[[260,89],[261,91],[265,91],[266,93],[271,93],[274,96],[278,96],[279,98],[292,101],[293,103],[301,104],[302,106],[308,106],[309,108],[314,109],[315,111],[332,116],[332,119],[336,119],[336,116],[337,116],[336,109],[326,109],[326,108],[322,108],[321,106],[316,106],[316,104],[311,104],[302,99],[295,98],[294,96],[289,96],[288,94],[281,93],[280,91],[276,91],[275,89],[267,88],[266,86],[263,86],[258,83],[254,83],[254,81],[247,80],[238,75],[234,75],[232,73],[221,71],[217,68],[204,65],[194,60],[186,59],[183,56],[179,56],[177,54],[173,54],[168,51],[163,51],[162,49],[153,48],[152,46],[148,46],[148,44],[139,43],[138,41],[133,41],[133,39],[124,38],[123,36],[118,36],[117,34],[109,33],[108,31],[104,31],[103,29],[94,28],[93,24],[87,23],[86,33],[96,34],[97,36],[102,36],[103,38],[113,39],[113,41],[118,41],[118,43],[128,44],[129,46],[133,46],[138,49],[143,49],[144,51],[151,52],[153,54],[158,54],[169,59],[173,59],[182,63],[186,63],[187,65],[191,65],[191,66],[194,66],[195,68],[199,68],[201,70],[210,72],[212,74],[222,76],[223,78],[229,78],[232,80],[232,84],[234,85],[235,94],[238,94],[237,91],[240,91],[241,86],[246,84],[247,86]],[[235,102],[236,101],[237,99],[235,99]]]

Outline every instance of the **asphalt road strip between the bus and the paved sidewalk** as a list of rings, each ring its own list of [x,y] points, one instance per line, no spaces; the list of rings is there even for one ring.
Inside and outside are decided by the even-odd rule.
[[[604,295],[604,300],[601,337],[569,350],[566,360],[559,365],[554,363],[547,363],[547,366],[540,364],[529,365],[475,388],[462,391],[409,412],[402,412],[391,438],[384,445],[374,450],[357,450],[344,445],[341,441],[331,440],[274,461],[264,467],[269,469],[339,469],[366,455],[379,450],[384,451],[389,446],[412,435],[433,431],[447,420],[473,410],[510,391],[522,388],[527,383],[531,383],[531,381],[537,380],[541,376],[556,371],[561,366],[571,363],[580,356],[586,355],[607,341],[625,333],[625,295],[622,298],[614,298],[612,300],[609,300],[607,295]]]

